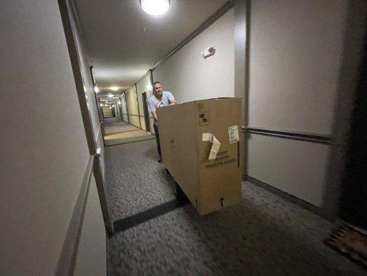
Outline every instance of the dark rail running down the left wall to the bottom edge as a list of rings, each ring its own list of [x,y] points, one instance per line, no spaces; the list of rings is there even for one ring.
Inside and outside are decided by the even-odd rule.
[[[92,176],[94,156],[90,155],[83,176],[83,183],[79,191],[78,199],[72,212],[67,233],[61,250],[59,262],[56,267],[56,276],[73,275],[76,264],[76,257],[78,255],[78,246],[81,237],[81,230],[83,227],[83,220],[85,215],[85,207],[87,205],[87,195],[90,188],[90,179]]]

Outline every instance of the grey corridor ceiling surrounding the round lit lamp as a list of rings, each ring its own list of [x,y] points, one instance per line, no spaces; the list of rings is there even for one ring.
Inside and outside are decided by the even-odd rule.
[[[160,16],[146,14],[139,0],[75,2],[103,97],[131,87],[227,0],[170,0]]]

